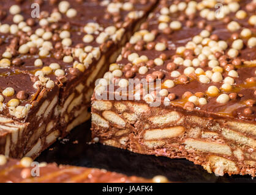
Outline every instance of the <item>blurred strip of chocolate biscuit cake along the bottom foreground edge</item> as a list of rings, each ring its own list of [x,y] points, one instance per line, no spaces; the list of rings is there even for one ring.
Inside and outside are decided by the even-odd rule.
[[[32,166],[32,167],[31,167]],[[37,168],[37,170],[35,169]],[[39,174],[40,173],[40,174]],[[164,176],[146,179],[126,176],[105,169],[86,168],[56,163],[33,162],[32,158],[21,160],[0,155],[0,183],[167,183]]]

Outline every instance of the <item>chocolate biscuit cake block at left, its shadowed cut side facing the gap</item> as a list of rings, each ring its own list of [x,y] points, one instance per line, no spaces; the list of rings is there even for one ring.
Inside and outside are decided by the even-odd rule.
[[[0,154],[35,158],[90,117],[94,81],[149,1],[1,1]]]

